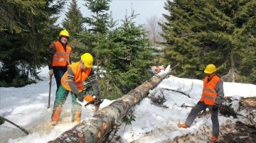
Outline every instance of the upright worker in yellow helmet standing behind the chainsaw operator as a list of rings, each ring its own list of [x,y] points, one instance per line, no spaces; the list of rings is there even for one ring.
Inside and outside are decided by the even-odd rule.
[[[68,45],[70,35],[67,30],[61,30],[59,33],[59,40],[53,42],[49,47],[48,53],[48,69],[49,76],[55,76],[57,91],[60,86],[60,79],[67,71],[68,65],[71,64],[70,54],[72,47]]]

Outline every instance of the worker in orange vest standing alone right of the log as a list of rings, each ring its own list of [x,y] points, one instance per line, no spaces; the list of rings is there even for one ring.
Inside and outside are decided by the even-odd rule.
[[[215,74],[216,67],[213,64],[208,64],[204,72],[207,74],[203,79],[203,93],[200,101],[191,109],[188,114],[186,122],[178,124],[178,127],[191,127],[196,115],[202,110],[209,108],[211,113],[211,120],[213,122],[213,136],[210,137],[210,142],[215,142],[218,139],[220,132],[218,122],[218,108],[224,100],[223,81]]]

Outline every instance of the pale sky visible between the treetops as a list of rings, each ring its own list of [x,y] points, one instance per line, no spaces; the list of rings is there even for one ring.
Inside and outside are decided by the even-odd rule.
[[[77,0],[78,7],[83,16],[90,16],[90,11],[87,10],[84,0]],[[139,14],[135,21],[137,24],[146,23],[146,19],[151,16],[157,16],[157,18],[163,18],[162,13],[167,13],[164,9],[164,3],[166,0],[112,0],[110,2],[110,11],[112,11],[112,18],[117,23],[121,23],[121,20],[125,19],[125,16],[131,16],[132,11],[134,14]],[[65,11],[68,10],[68,5],[65,6]],[[60,15],[57,23],[61,23],[65,18],[65,12]]]

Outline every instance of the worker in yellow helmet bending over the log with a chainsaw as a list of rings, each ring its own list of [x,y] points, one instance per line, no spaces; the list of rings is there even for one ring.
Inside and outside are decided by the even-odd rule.
[[[60,112],[63,104],[71,93],[72,97],[72,122],[80,122],[82,106],[76,101],[83,101],[83,88],[86,79],[89,79],[92,84],[95,100],[100,101],[100,88],[97,83],[96,75],[92,69],[93,57],[90,53],[85,53],[81,56],[79,62],[68,65],[68,71],[61,78],[61,84],[56,93],[55,102],[53,105],[52,125],[56,125],[60,119]]]

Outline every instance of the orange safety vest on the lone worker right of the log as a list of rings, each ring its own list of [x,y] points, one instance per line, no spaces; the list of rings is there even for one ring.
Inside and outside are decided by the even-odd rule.
[[[205,79],[203,79],[203,93],[200,101],[203,101],[206,103],[206,105],[214,105],[218,95],[215,91],[215,87],[218,84],[218,81],[220,81],[220,78],[216,75],[213,76],[213,79],[210,79],[209,82],[207,76]]]

